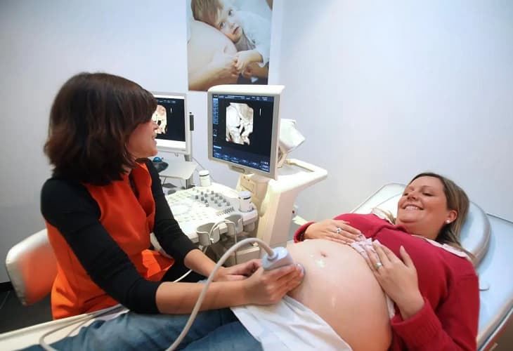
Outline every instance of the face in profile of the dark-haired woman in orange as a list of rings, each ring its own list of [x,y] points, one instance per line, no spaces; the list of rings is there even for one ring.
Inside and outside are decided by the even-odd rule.
[[[139,124],[130,134],[126,148],[135,159],[155,156],[157,154],[157,142],[155,136],[159,126],[150,119]]]

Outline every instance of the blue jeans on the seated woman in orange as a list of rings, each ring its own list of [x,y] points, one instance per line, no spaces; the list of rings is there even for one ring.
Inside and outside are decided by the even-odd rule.
[[[57,350],[165,350],[186,325],[189,314],[136,314],[128,312],[108,321],[97,320],[77,336],[51,344]],[[34,345],[25,350],[42,350]],[[177,350],[262,350],[229,308],[204,311]]]

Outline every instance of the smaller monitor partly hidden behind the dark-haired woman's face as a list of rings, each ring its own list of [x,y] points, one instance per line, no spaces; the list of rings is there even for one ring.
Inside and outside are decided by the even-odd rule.
[[[153,93],[157,110],[152,115],[157,122],[157,150],[190,154],[189,117],[186,95],[181,93]]]

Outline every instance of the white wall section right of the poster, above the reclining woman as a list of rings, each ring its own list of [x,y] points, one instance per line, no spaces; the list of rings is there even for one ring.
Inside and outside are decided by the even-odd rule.
[[[513,220],[512,1],[285,1],[284,10],[282,116],[307,138],[292,157],[329,171],[301,193],[301,215],[335,216],[430,170]]]

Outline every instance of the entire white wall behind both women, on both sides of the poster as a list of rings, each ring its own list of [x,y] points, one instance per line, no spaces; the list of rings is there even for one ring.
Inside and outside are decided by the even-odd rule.
[[[299,212],[349,211],[384,183],[446,174],[513,220],[511,1],[274,1],[270,81],[307,140],[291,157],[329,171]],[[185,1],[0,2],[0,258],[44,227],[39,190],[48,111],[72,74],[120,74],[186,91]],[[207,161],[206,95],[189,93],[193,151]],[[27,126],[28,125],[28,126]],[[0,270],[0,282],[8,277]]]

